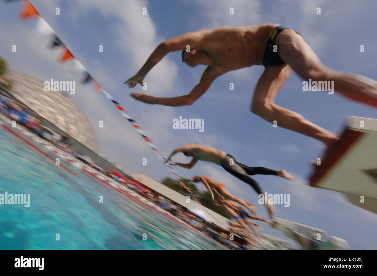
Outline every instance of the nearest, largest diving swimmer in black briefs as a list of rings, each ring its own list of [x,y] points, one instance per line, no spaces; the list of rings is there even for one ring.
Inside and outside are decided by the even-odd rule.
[[[191,67],[207,65],[199,83],[187,95],[156,98],[146,93],[133,93],[133,98],[148,104],[174,107],[192,105],[224,73],[263,65],[265,69],[254,89],[251,111],[270,123],[276,120],[280,127],[313,137],[327,146],[339,140],[339,136],[274,102],[292,69],[304,81],[333,81],[334,91],[353,101],[377,107],[376,81],[330,69],[320,61],[300,34],[279,24],[222,26],[170,38],[156,47],[143,67],[125,84],[129,88],[143,84],[147,73],[172,51],[181,51],[182,62]]]

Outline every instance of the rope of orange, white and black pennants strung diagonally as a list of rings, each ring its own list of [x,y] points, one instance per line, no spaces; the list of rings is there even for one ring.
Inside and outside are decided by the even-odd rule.
[[[37,21],[37,24],[36,24],[36,27],[35,27],[36,30],[37,30],[37,35],[38,36],[51,36],[52,37],[52,42],[51,42],[51,45],[50,45],[51,49],[54,49],[55,47],[63,47],[63,49],[64,49],[63,55],[61,55],[61,57],[58,59],[58,61],[60,61],[60,63],[64,63],[66,61],[70,61],[70,60],[73,59],[72,63],[73,63],[73,66],[74,66],[73,67],[74,73],[80,72],[80,71],[85,72],[85,77],[84,77],[84,80],[82,81],[82,83],[86,84],[87,82],[92,81],[95,84],[95,86],[97,87],[97,91],[100,94],[102,92],[105,94],[106,98],[109,99],[116,106],[116,108],[118,108],[118,110],[120,111],[122,116],[125,117],[130,122],[132,127],[135,128],[135,130],[141,135],[141,137],[143,137],[144,141],[147,143],[148,146],[150,146],[150,148],[152,148],[152,150],[156,154],[156,156],[162,162],[164,162],[164,164],[166,166],[168,166],[168,168],[170,169],[172,174],[176,178],[178,178],[178,181],[181,184],[181,186],[183,188],[185,188],[187,192],[192,194],[193,198],[198,200],[195,197],[193,191],[191,191],[189,189],[189,187],[187,187],[185,185],[182,178],[177,174],[177,171],[175,171],[175,169],[173,169],[172,166],[170,166],[169,163],[166,162],[167,160],[164,157],[162,157],[161,154],[159,154],[159,152],[157,150],[157,146],[155,146],[153,141],[146,136],[147,132],[144,131],[138,125],[138,123],[134,119],[132,119],[132,117],[128,116],[125,113],[126,110],[121,106],[121,104],[114,101],[112,96],[109,93],[107,93],[105,90],[102,89],[102,87],[98,84],[98,82],[93,79],[93,77],[89,74],[89,72],[86,70],[86,68],[83,66],[83,64],[81,64],[81,62],[78,61],[78,59],[72,54],[72,52],[64,45],[64,43],[60,40],[60,38],[57,36],[57,34],[54,32],[54,30],[50,27],[50,25],[46,22],[46,20],[44,20],[41,17],[41,15],[37,11],[37,9],[35,9],[34,6],[28,0],[24,0],[23,6],[21,8],[21,14],[19,15],[19,18],[21,20],[24,20],[24,21],[28,20],[28,19],[38,18],[38,21]]]

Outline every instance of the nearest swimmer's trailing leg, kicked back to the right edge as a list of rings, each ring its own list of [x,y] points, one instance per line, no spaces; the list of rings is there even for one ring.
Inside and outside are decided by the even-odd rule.
[[[377,82],[373,79],[326,67],[294,30],[283,30],[277,36],[276,44],[280,57],[304,81],[334,81],[334,90],[343,96],[377,107]]]

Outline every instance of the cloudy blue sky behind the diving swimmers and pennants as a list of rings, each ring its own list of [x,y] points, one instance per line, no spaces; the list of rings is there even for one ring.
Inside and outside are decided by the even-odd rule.
[[[377,249],[377,216],[348,203],[342,194],[308,186],[310,160],[320,157],[322,143],[301,134],[273,128],[250,112],[253,89],[263,72],[262,66],[229,72],[216,79],[197,102],[187,107],[146,105],[133,100],[123,82],[144,64],[162,41],[198,29],[222,25],[259,25],[277,23],[301,33],[327,66],[376,79],[377,55],[375,30],[377,2],[371,1],[59,1],[31,0],[64,44],[83,63],[103,89],[120,102],[127,113],[149,133],[163,156],[173,148],[198,143],[210,145],[233,155],[250,166],[287,169],[297,177],[288,182],[274,176],[253,177],[262,190],[290,194],[289,208],[276,206],[277,217],[328,231],[346,239],[352,249]],[[42,80],[76,80],[77,93],[72,99],[83,108],[97,132],[100,152],[131,172],[141,171],[160,180],[171,176],[150,148],[140,139],[113,105],[95,92],[95,86],[78,84],[80,78],[67,75],[69,64],[55,60],[61,50],[46,49],[48,38],[38,38],[32,31],[36,20],[16,18],[21,2],[0,2],[0,55],[12,70],[28,73]],[[60,15],[55,15],[55,8]],[[142,15],[142,8],[147,15]],[[229,15],[229,8],[234,15]],[[321,15],[316,8],[321,8]],[[12,45],[17,52],[12,53]],[[98,52],[98,46],[104,52]],[[360,53],[360,45],[365,52]],[[180,52],[169,53],[144,79],[147,93],[153,96],[185,95],[198,83],[205,66],[183,64]],[[229,83],[234,90],[229,90]],[[294,110],[308,120],[340,134],[347,115],[376,118],[376,110],[363,104],[327,93],[303,92],[302,81],[292,73],[277,95],[276,103]],[[173,119],[204,119],[204,132],[173,130]],[[98,121],[104,121],[104,128]],[[147,166],[142,159],[147,158]],[[178,162],[187,159],[177,155]],[[209,175],[224,183],[229,191],[257,203],[256,193],[222,168],[198,163],[193,169],[178,168],[183,177]],[[267,216],[264,207],[259,214]],[[265,233],[285,238],[278,230],[265,227]],[[288,239],[288,238],[287,238]]]

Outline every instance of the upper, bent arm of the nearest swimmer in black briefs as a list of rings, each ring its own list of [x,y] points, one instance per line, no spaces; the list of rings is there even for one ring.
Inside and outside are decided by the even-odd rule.
[[[203,39],[206,32],[207,30],[188,32],[160,43],[150,54],[146,63],[144,63],[136,75],[129,78],[126,82],[124,82],[124,84],[127,84],[129,88],[135,87],[138,83],[143,84],[144,77],[157,63],[161,61],[162,58],[164,58],[164,56],[166,56],[169,52],[186,49],[187,45],[189,45],[190,48],[195,48]]]

